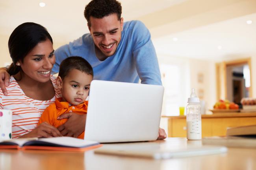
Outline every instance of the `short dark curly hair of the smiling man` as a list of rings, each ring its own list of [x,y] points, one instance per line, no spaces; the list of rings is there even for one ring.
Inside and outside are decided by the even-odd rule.
[[[89,27],[91,27],[90,16],[103,18],[114,13],[117,14],[118,20],[121,20],[122,6],[117,0],[92,0],[84,10]]]

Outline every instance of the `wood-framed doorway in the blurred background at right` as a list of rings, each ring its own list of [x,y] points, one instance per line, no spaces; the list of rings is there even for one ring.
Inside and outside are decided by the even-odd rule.
[[[216,64],[217,99],[240,104],[243,97],[252,97],[250,58]]]

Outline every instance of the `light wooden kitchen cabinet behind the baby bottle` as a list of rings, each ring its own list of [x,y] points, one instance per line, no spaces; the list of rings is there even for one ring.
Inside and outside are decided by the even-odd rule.
[[[168,118],[168,137],[186,137],[186,116]],[[256,113],[218,113],[202,115],[202,137],[225,136],[227,128],[256,124]]]

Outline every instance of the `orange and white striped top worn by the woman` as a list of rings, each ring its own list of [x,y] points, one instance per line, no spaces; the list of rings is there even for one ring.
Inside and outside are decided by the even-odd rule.
[[[9,86],[6,87],[8,95],[5,96],[0,90],[0,109],[13,112],[13,138],[18,138],[35,129],[45,108],[54,103],[56,98],[61,97],[61,90],[56,85],[56,77],[51,75],[50,79],[55,95],[48,101],[38,101],[27,97],[13,76],[10,77]]]

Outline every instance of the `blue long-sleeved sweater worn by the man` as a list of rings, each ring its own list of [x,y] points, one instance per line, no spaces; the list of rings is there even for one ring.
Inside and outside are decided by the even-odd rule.
[[[85,58],[93,67],[95,80],[139,82],[161,85],[161,75],[156,51],[150,33],[140,21],[124,22],[121,42],[114,55],[98,60],[91,34],[61,46],[55,51],[56,64],[52,72],[59,72],[59,64],[70,56]]]

